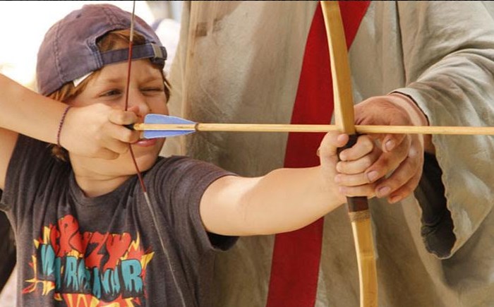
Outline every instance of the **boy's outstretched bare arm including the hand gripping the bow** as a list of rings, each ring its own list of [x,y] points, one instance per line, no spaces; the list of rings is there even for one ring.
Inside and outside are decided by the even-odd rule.
[[[357,143],[361,150],[346,150],[347,154],[360,152],[347,167],[354,170],[355,180],[350,185],[354,184],[360,195],[370,197],[373,183],[368,183],[364,171],[379,152],[369,146],[370,138],[361,138],[368,140]],[[200,203],[205,229],[236,236],[275,234],[304,227],[342,205],[346,198],[334,180],[336,150],[347,140],[346,135],[328,133],[319,150],[319,167],[277,169],[256,178],[225,176],[213,182]]]

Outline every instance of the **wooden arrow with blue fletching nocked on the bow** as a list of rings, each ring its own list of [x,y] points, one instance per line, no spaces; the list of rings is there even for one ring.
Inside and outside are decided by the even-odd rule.
[[[144,123],[129,128],[144,131],[144,138],[183,136],[196,131],[224,132],[319,132],[337,131],[335,125],[307,124],[207,124],[162,114],[147,114]],[[470,126],[378,126],[356,125],[357,133],[403,133],[494,136],[494,127]]]

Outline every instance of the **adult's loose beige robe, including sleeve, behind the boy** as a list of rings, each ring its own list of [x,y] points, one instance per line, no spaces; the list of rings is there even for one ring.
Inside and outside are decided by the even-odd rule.
[[[289,123],[315,1],[191,1],[171,68],[171,114],[199,122]],[[372,1],[349,59],[355,102],[399,89],[433,126],[494,126],[494,20],[481,1]],[[434,255],[414,196],[370,207],[379,306],[494,306],[494,142],[434,136],[456,241]],[[196,133],[164,154],[244,176],[283,166],[283,133]],[[421,193],[421,191],[417,191]],[[427,195],[426,195],[427,197]],[[428,206],[427,198],[422,206]],[[432,239],[431,239],[432,238]],[[432,240],[432,241],[431,241]],[[213,306],[265,306],[274,236],[242,238],[217,258]],[[426,248],[428,246],[428,249]],[[325,217],[316,306],[358,306],[346,208]]]

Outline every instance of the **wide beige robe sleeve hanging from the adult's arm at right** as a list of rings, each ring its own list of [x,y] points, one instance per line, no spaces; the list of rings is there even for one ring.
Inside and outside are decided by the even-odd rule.
[[[406,88],[396,91],[412,97],[431,126],[494,126],[494,19],[488,7],[481,1],[410,2],[398,4]],[[450,217],[425,223],[435,196],[422,191],[422,235],[428,251],[450,258],[494,205],[494,137],[435,135],[433,144]]]

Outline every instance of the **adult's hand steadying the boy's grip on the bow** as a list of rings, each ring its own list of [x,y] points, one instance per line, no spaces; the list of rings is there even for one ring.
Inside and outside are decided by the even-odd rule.
[[[371,97],[355,106],[359,125],[428,126],[426,116],[409,97],[399,93]],[[430,136],[419,134],[374,134],[382,154],[366,170],[375,195],[390,203],[414,191],[422,175],[425,144],[433,151]]]

